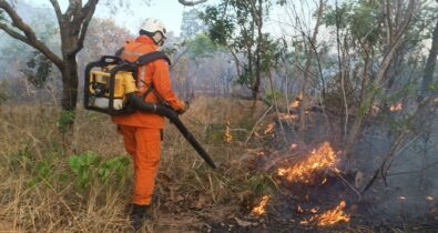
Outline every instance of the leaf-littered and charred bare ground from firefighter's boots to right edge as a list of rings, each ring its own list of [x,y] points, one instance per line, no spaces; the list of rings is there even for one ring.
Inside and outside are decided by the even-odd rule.
[[[353,178],[348,178],[352,181]],[[172,210],[160,212],[157,232],[438,232],[438,221],[434,214],[410,216],[409,210],[400,215],[376,213],[379,200],[376,195],[357,194],[338,178],[329,178],[324,185],[299,186],[279,184],[282,193],[277,193],[267,205],[267,214],[257,217],[248,209],[222,204],[206,209],[184,210],[172,213]],[[345,213],[350,215],[348,223],[340,222],[333,226],[303,225],[317,210],[323,213],[332,210],[345,200]],[[301,211],[298,209],[301,206]],[[437,205],[435,205],[437,207]]]

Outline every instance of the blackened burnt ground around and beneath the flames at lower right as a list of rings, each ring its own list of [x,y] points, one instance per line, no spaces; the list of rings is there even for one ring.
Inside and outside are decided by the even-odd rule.
[[[352,176],[347,179],[353,181]],[[324,185],[310,188],[283,185],[282,191],[268,205],[265,217],[257,219],[241,210],[223,222],[207,221],[202,232],[438,232],[436,214],[416,216],[410,210],[404,210],[403,203],[398,216],[377,213],[375,206],[379,205],[381,195],[370,194],[359,200],[338,178],[329,178]],[[340,200],[347,203],[345,212],[350,215],[350,222],[333,226],[301,223],[315,215],[312,210],[316,209],[317,213],[332,210]]]

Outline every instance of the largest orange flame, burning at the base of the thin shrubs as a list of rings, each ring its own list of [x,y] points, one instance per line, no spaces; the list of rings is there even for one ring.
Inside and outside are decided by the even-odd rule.
[[[308,159],[291,168],[281,168],[277,175],[289,182],[310,183],[316,172],[336,169],[337,158],[330,144],[325,142],[317,151],[313,151]]]

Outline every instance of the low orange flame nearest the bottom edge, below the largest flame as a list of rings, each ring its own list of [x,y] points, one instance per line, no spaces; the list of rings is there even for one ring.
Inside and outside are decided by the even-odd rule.
[[[340,201],[339,205],[334,210],[312,216],[309,220],[301,221],[301,224],[308,225],[310,223],[317,223],[318,226],[328,226],[339,222],[349,222],[350,216],[344,212],[345,206],[345,201]]]

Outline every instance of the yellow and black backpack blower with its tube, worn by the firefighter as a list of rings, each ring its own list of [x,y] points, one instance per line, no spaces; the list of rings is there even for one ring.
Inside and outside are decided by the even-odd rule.
[[[179,114],[166,104],[146,103],[136,92],[136,72],[157,59],[170,59],[161,51],[141,55],[136,62],[123,61],[120,57],[103,55],[85,67],[84,108],[109,115],[130,114],[135,111],[167,118],[183,134],[200,156],[213,169],[211,156],[180,120]]]

